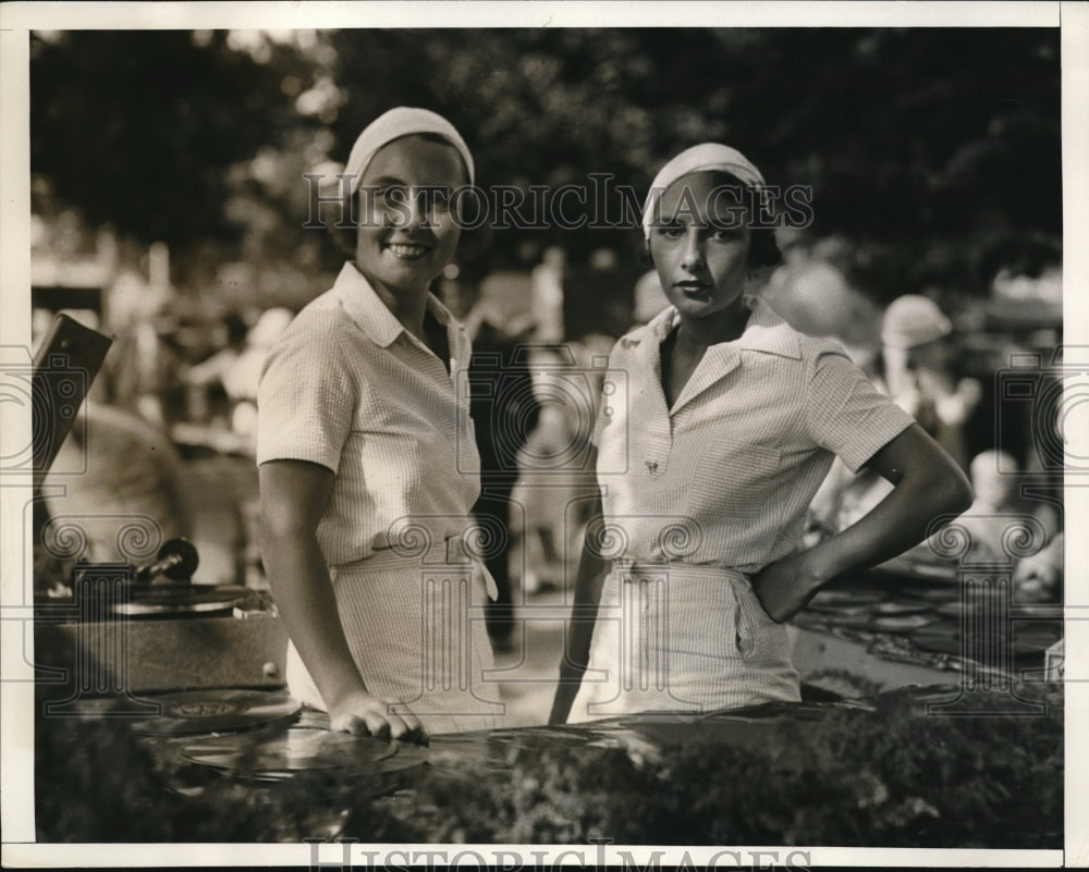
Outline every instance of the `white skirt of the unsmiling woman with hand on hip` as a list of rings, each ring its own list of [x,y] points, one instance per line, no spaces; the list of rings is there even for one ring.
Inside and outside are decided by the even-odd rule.
[[[799,700],[786,627],[768,617],[744,574],[619,562],[567,722]]]

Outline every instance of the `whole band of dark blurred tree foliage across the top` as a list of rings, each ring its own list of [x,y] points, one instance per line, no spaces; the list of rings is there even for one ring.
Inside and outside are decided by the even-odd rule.
[[[611,173],[641,199],[680,149],[730,143],[769,182],[812,186],[813,234],[849,240],[856,279],[880,299],[930,282],[979,293],[995,250],[1061,236],[1057,29],[404,29],[319,40],[319,52],[277,46],[261,61],[222,34],[204,46],[176,32],[39,40],[33,167],[91,221],[182,245],[237,238],[242,225],[260,242],[246,257],[279,257],[314,245],[296,212],[308,196],[301,172],[319,161],[290,156],[328,137],[321,126],[333,136],[319,150],[343,162],[367,122],[409,105],[454,122],[485,186]],[[335,83],[329,106],[299,111],[297,83],[322,77]],[[279,184],[237,174],[262,149],[290,171]],[[628,255],[637,237],[500,231],[476,259],[484,267],[526,241],[576,258],[603,246]]]

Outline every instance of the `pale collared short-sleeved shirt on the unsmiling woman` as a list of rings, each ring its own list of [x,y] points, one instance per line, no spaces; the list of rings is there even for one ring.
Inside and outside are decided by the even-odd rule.
[[[707,349],[672,408],[660,348],[676,309],[613,347],[623,378],[595,432],[607,554],[757,572],[796,548],[834,455],[856,471],[910,426],[839,345],[746,302],[743,334]]]

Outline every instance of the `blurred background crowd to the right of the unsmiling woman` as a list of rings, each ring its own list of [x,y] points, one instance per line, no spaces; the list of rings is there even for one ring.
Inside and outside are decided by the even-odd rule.
[[[883,310],[873,306],[851,287],[839,240],[810,245],[787,237],[783,249],[786,262],[762,295],[796,329],[843,345],[870,380],[969,474],[976,499],[957,520],[968,537],[963,560],[1015,562],[1018,599],[1060,601],[1062,464],[1055,464],[1045,446],[1060,426],[1057,408],[1043,402],[1031,409],[1004,406],[1008,397],[1001,378],[1016,356],[1049,361],[1057,332],[1039,324],[1035,331],[998,331],[981,346],[984,319],[978,311],[966,312],[958,329],[943,310],[937,288],[900,296]],[[1024,292],[1027,285],[1045,284],[1050,299],[1056,269],[1039,278],[1020,277],[1018,287]],[[1008,268],[994,279],[1002,297],[1012,282]],[[980,347],[990,353],[979,354]],[[1045,366],[1025,374],[1036,384],[1033,396],[1044,396],[1043,382],[1050,378]],[[855,523],[890,490],[874,474],[853,475],[836,459],[810,507],[809,541]],[[928,541],[909,554],[933,561],[939,553]]]

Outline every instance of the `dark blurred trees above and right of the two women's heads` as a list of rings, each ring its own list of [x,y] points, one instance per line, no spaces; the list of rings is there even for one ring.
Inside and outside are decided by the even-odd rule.
[[[463,131],[485,184],[602,172],[641,200],[672,155],[726,142],[770,183],[812,187],[812,232],[853,241],[856,279],[882,299],[931,281],[981,291],[995,246],[1061,235],[1057,30],[344,30],[332,44],[351,94],[342,150],[415,102]],[[546,235],[576,255],[638,236]]]

